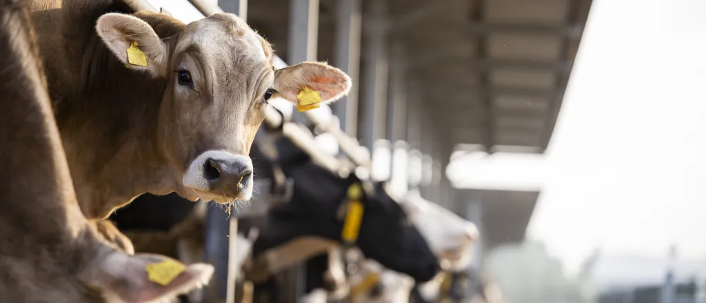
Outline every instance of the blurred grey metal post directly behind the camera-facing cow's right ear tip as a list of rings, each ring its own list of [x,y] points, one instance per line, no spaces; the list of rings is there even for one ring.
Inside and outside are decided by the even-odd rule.
[[[336,104],[333,113],[341,128],[351,137],[357,135],[360,70],[361,11],[360,0],[338,0],[336,11],[335,65],[353,80],[353,88]]]

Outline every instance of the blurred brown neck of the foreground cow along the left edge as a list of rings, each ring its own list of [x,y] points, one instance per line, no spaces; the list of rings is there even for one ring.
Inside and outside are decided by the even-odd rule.
[[[72,274],[106,248],[76,203],[28,15],[19,5],[0,3],[0,300],[101,302],[81,293],[88,290]]]

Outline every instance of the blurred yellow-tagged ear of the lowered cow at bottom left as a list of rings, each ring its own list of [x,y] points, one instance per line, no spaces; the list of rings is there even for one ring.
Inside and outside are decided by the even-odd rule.
[[[166,285],[150,280],[148,275],[155,275],[150,266],[164,266],[157,276],[167,274],[167,280],[163,281]],[[168,272],[175,267],[183,271],[169,280]],[[152,270],[150,273],[148,268]],[[87,268],[87,272],[83,272],[80,278],[85,284],[101,290],[107,299],[114,298],[117,302],[155,302],[201,287],[208,283],[212,275],[213,266],[208,264],[185,266],[157,254],[128,255],[112,251],[98,259],[95,266]]]

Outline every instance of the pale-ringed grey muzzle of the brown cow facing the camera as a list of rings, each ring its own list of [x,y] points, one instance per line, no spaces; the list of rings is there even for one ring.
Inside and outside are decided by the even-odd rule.
[[[249,156],[204,152],[191,161],[183,183],[196,190],[201,199],[219,203],[249,200],[253,194],[253,162]]]

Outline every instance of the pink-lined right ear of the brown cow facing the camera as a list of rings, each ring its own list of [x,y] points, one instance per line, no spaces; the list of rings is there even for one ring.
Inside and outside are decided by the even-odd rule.
[[[329,103],[348,94],[351,78],[342,70],[320,62],[304,62],[275,72],[275,97],[297,103],[302,87],[318,92],[322,103]]]

